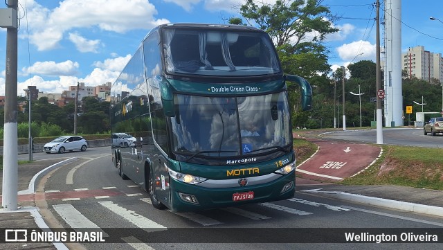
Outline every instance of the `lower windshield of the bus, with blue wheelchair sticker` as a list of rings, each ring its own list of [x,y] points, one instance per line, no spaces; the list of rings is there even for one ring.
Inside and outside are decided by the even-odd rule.
[[[291,143],[286,92],[242,97],[177,94],[174,101],[172,147],[178,154],[231,157],[282,150]]]

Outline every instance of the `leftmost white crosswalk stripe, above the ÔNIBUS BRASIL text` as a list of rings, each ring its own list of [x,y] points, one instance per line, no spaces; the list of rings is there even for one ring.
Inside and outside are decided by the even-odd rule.
[[[55,212],[57,212],[62,219],[75,229],[94,229],[101,231],[105,237],[109,235],[100,229],[95,223],[91,222],[87,217],[84,217],[80,211],[74,208],[71,204],[56,204],[53,205]]]

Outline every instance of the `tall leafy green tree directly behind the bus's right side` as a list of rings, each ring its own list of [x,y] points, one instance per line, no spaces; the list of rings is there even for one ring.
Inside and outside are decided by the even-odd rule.
[[[322,114],[316,114],[317,109],[333,105],[322,105],[328,102],[328,95],[316,96],[318,91],[330,91],[331,84],[327,78],[330,66],[327,63],[327,48],[323,46],[326,35],[338,31],[333,23],[337,19],[331,14],[327,6],[322,5],[323,0],[278,0],[275,4],[267,4],[254,0],[246,0],[240,8],[240,14],[246,22],[253,26],[256,24],[269,34],[277,48],[282,68],[285,73],[300,75],[306,78],[313,86],[313,108],[311,111],[302,111],[298,105],[300,92],[298,86],[287,82],[289,100],[293,111],[292,120],[294,127],[304,127],[309,116],[318,116],[323,126]],[[243,24],[239,18],[231,18],[230,24]],[[320,89],[316,90],[316,88]],[[318,102],[316,105],[315,102]],[[323,114],[324,113],[324,114]]]

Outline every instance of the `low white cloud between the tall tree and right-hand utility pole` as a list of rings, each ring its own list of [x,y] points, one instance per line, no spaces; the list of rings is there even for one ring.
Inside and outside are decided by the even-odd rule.
[[[375,45],[370,44],[368,41],[356,41],[350,44],[343,44],[336,48],[338,56],[344,61],[352,61],[367,59],[374,60],[375,58]],[[363,53],[363,55],[360,55]]]

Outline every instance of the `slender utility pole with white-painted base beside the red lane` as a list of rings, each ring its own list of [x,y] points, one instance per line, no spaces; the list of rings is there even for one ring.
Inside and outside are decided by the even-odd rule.
[[[380,72],[380,1],[377,0],[375,3],[377,6],[377,30],[375,35],[376,45],[375,45],[375,58],[376,58],[376,73],[375,73],[375,93],[379,93],[381,89],[381,72]],[[381,114],[381,98],[377,96],[377,144],[383,144],[383,116]]]

